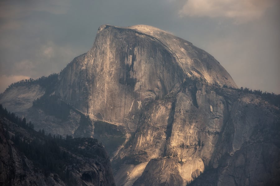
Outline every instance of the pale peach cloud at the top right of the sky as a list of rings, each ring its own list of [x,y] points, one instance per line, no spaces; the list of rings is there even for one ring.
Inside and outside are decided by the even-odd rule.
[[[258,19],[277,0],[187,0],[180,16],[230,18],[235,23]]]

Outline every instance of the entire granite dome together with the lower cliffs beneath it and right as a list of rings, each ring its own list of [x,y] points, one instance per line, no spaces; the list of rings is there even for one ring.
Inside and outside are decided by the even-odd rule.
[[[146,25],[103,25],[53,94],[71,106],[68,131],[81,113],[126,132],[111,157],[117,185],[278,185],[279,108],[222,87],[237,88],[190,42]]]

